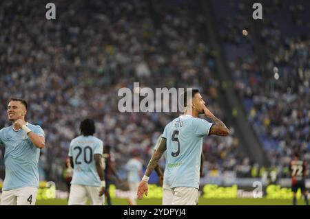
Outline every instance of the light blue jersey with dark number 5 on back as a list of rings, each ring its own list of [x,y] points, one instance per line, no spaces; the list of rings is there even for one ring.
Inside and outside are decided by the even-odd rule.
[[[169,122],[162,137],[166,139],[167,165],[164,183],[170,187],[199,187],[200,154],[203,137],[212,124],[205,119],[181,115]],[[184,177],[186,176],[186,177]]]

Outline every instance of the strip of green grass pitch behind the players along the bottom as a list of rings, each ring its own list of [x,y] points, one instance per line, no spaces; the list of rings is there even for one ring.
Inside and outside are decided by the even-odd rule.
[[[128,205],[125,198],[112,199],[113,205]],[[267,199],[267,198],[227,198],[207,199],[199,198],[199,205],[291,205],[292,200]],[[37,200],[36,205],[67,205],[65,199]],[[161,199],[147,198],[138,200],[138,205],[161,205]],[[304,200],[299,199],[298,205],[304,205]]]

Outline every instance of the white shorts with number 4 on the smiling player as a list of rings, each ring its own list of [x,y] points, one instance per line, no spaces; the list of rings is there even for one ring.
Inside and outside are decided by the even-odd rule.
[[[38,188],[22,187],[2,192],[0,205],[35,205]]]

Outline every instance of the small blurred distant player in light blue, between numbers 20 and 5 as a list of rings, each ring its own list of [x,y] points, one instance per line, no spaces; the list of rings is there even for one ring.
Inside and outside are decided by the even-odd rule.
[[[140,161],[140,153],[138,151],[134,151],[132,154],[133,158],[126,163],[125,169],[128,171],[127,181],[131,193],[128,197],[128,202],[130,205],[136,205],[136,192],[143,175],[143,165]]]

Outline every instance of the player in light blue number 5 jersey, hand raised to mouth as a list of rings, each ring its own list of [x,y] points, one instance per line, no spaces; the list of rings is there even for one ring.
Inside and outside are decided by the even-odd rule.
[[[172,203],[167,205],[197,205],[199,188],[200,154],[205,135],[229,135],[225,124],[205,106],[198,90],[184,93],[185,113],[165,127],[158,149],[152,155],[147,170],[138,186],[137,196],[147,195],[148,179],[163,152],[167,150],[167,168],[164,183],[171,187]],[[198,118],[205,114],[214,123]]]

